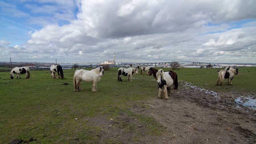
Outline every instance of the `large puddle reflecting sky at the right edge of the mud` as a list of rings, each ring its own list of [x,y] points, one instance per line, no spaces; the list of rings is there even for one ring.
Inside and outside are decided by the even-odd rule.
[[[241,97],[236,98],[235,101],[238,105],[237,107],[240,107],[242,105],[242,106],[245,106],[245,107],[256,110],[256,99],[255,99],[255,97],[253,98],[251,96],[248,96],[248,97],[241,96]]]

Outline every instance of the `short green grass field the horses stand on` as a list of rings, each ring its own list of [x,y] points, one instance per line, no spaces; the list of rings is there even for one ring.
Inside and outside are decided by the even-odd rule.
[[[74,92],[75,70],[64,70],[64,79],[51,79],[45,70],[31,71],[30,79],[24,79],[22,75],[22,79],[13,80],[10,80],[9,72],[0,72],[0,143],[30,137],[37,139],[30,143],[97,143],[102,127],[95,123],[102,120],[119,122],[119,129],[131,133],[135,142],[141,135],[160,135],[165,129],[159,122],[129,110],[137,101],[156,98],[156,81],[152,76],[137,74],[132,77],[133,82],[127,82],[125,76],[122,76],[123,82],[117,82],[117,69],[104,72],[97,84],[97,92],[91,91],[92,83],[85,82],[81,84],[82,92]],[[256,68],[239,68],[233,86],[225,84],[223,87],[215,86],[217,70],[180,68],[176,72],[179,81],[217,92],[256,92]],[[69,85],[63,85],[64,82]],[[125,123],[123,115],[137,122]],[[143,132],[138,131],[140,126],[145,126]],[[119,142],[116,139],[102,141]]]

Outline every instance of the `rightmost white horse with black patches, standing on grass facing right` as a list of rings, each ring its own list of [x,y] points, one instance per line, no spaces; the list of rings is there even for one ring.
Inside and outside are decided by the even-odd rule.
[[[236,69],[221,70],[219,72],[216,85],[219,85],[219,82],[220,82],[220,86],[223,86],[223,80],[225,78],[228,79],[227,85],[232,85],[232,80],[234,78],[234,75],[238,75],[238,71]]]

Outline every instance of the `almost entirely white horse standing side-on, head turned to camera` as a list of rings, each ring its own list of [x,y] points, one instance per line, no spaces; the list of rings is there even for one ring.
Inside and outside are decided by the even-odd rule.
[[[92,91],[98,91],[97,82],[104,74],[104,67],[100,66],[93,70],[76,70],[74,74],[74,91],[82,91],[81,82],[92,82]]]

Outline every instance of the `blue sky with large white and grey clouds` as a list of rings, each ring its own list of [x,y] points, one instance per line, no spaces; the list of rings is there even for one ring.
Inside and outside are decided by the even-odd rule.
[[[256,63],[255,0],[0,0],[0,61]]]

